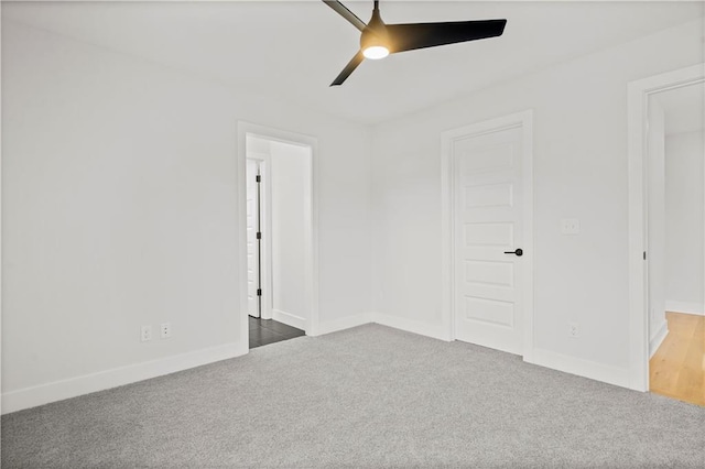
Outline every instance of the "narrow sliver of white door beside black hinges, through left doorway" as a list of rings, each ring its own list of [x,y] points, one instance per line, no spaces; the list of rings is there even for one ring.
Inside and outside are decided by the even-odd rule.
[[[260,226],[259,162],[247,161],[247,310],[250,316],[260,317],[260,243],[257,238]]]

